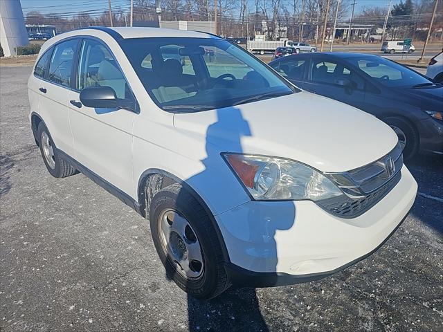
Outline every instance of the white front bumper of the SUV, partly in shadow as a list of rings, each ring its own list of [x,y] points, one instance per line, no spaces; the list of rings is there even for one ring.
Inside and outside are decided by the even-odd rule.
[[[228,250],[226,271],[239,286],[279,286],[321,279],[364,259],[395,232],[412,207],[417,183],[401,180],[354,219],[311,201],[250,201],[215,216]]]

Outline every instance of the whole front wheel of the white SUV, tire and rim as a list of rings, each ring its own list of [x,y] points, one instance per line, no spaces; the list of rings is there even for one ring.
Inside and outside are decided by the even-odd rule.
[[[150,226],[168,277],[183,291],[209,299],[230,286],[211,217],[181,185],[169,185],[154,196]]]

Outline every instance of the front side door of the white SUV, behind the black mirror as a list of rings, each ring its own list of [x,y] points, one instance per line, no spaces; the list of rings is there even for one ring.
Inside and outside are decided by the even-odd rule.
[[[136,113],[126,109],[94,109],[80,102],[83,89],[109,86],[117,98],[132,94],[109,48],[98,39],[83,39],[76,89],[69,95],[75,159],[123,192],[132,184],[132,127]]]

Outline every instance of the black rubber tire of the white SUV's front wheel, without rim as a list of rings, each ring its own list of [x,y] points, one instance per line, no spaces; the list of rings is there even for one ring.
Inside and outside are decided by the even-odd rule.
[[[188,279],[178,273],[177,264],[173,263],[172,257],[162,246],[159,223],[163,212],[168,209],[179,212],[188,221],[200,243],[204,266],[199,279]],[[168,277],[183,291],[199,299],[210,299],[226,291],[230,283],[224,268],[221,245],[211,217],[201,204],[181,185],[174,183],[157,192],[149,210],[152,239]]]

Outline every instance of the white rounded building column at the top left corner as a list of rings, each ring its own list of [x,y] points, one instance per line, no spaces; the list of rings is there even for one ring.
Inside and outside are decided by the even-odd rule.
[[[0,44],[6,57],[17,55],[17,46],[28,45],[25,20],[19,0],[0,0]]]

